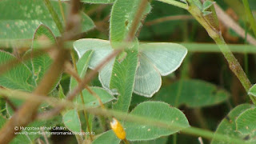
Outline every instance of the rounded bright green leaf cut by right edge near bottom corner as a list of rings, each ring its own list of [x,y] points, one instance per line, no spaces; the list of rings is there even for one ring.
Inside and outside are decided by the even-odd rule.
[[[256,108],[245,110],[235,122],[240,133],[254,134],[256,131]]]

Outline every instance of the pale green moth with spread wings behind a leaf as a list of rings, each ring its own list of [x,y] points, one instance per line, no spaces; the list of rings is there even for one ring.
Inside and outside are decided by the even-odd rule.
[[[89,67],[94,69],[112,51],[109,41],[85,38],[74,42],[74,50],[77,51],[79,58],[87,50],[94,50],[89,63]],[[161,87],[162,78],[177,70],[187,54],[184,46],[175,43],[156,42],[143,43],[138,48],[138,67],[134,81],[134,93],[145,97],[152,97]],[[126,58],[121,54],[122,59]],[[114,58],[99,71],[98,78],[102,86],[110,90],[110,78],[114,65]],[[110,90],[113,94],[118,91]]]

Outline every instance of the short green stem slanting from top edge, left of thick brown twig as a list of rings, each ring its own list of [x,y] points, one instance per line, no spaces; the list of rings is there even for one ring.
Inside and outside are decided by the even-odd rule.
[[[56,26],[58,27],[59,32],[62,34],[62,32],[64,31],[62,22],[61,22],[60,18],[58,18],[58,14],[54,10],[54,7],[51,5],[49,0],[43,0],[43,1],[45,2],[46,7],[50,12],[51,17],[54,19],[54,22],[55,22]]]

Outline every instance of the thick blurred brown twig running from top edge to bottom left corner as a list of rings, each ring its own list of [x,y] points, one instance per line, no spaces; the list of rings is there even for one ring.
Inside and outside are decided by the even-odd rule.
[[[50,5],[49,0],[45,0],[46,5]],[[47,6],[48,7],[48,6]],[[51,6],[52,7],[52,6]],[[49,7],[48,7],[49,8]],[[66,33],[64,34],[64,38],[61,38],[60,42],[58,42],[59,46],[62,48],[63,42],[62,40],[68,40],[69,38],[65,38],[65,35],[70,35],[70,33],[77,34],[77,29],[74,29],[75,26],[79,26],[80,23],[79,18],[79,0],[71,1],[71,10],[69,15],[69,21],[66,25]],[[50,14],[54,14],[50,11]],[[56,15],[56,14],[55,14]],[[54,17],[54,15],[52,15]],[[72,18],[74,19],[72,20]],[[76,22],[76,23],[75,23]],[[61,27],[59,27],[61,31]],[[42,81],[39,83],[38,87],[34,90],[33,94],[44,95],[46,96],[52,86],[54,86],[55,81],[58,76],[62,74],[62,70],[64,67],[64,63],[69,58],[69,50],[58,49],[56,58],[54,59],[53,64],[50,66],[50,69],[46,72]],[[26,100],[26,102],[22,105],[22,107],[14,113],[14,115],[10,118],[9,121],[6,122],[2,129],[0,130],[0,143],[9,143],[15,137],[14,126],[26,126],[30,122],[34,121],[36,118],[38,106],[40,106],[42,102],[34,102],[32,100]]]

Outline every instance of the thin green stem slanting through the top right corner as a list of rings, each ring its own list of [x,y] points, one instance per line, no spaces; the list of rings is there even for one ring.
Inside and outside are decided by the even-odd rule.
[[[256,22],[254,19],[254,15],[252,14],[251,10],[250,10],[250,6],[249,6],[249,2],[248,0],[242,0],[243,6],[245,6],[246,9],[246,16],[247,16],[247,20],[248,22],[250,22],[250,26],[254,31],[254,36],[256,37]]]

